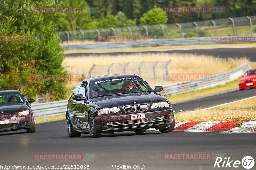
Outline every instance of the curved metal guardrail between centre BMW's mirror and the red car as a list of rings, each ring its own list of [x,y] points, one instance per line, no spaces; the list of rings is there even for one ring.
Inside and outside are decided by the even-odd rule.
[[[163,86],[163,91],[160,92],[161,95],[176,95],[188,91],[195,91],[199,89],[204,89],[212,86],[216,86],[219,84],[224,84],[226,82],[232,81],[240,77],[245,73],[246,70],[251,68],[250,61],[242,66],[238,67],[234,70],[230,70],[226,73],[213,75],[208,77],[208,80],[204,81],[183,81],[180,83],[174,83],[167,86]]]

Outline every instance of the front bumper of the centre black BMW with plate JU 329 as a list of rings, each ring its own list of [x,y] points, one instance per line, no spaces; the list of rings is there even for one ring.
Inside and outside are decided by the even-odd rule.
[[[144,119],[132,120],[132,115],[145,114]],[[160,117],[164,119],[161,120]],[[100,115],[94,117],[95,125],[100,132],[121,132],[121,131],[134,131],[136,129],[163,129],[171,126],[173,122],[173,112],[169,108],[167,110],[156,110],[150,112],[137,112],[132,114],[113,114],[113,115]],[[109,122],[113,122],[110,125]]]

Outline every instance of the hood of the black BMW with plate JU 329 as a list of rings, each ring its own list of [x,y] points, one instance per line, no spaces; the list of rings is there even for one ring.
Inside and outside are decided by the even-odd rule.
[[[154,103],[166,101],[164,96],[159,95],[153,92],[136,92],[136,93],[127,93],[113,96],[103,96],[91,99],[91,101],[101,108],[107,107],[122,107],[126,105],[132,105],[133,102],[137,102],[136,104],[142,103]]]

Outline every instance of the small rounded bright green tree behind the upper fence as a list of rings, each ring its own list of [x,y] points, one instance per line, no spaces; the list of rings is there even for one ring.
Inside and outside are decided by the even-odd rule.
[[[167,20],[167,15],[164,13],[163,9],[155,6],[153,9],[143,14],[143,17],[140,18],[140,25],[166,24]]]

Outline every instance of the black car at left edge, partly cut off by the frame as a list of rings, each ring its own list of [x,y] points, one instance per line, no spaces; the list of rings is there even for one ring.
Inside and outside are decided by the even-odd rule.
[[[27,133],[35,132],[33,112],[29,103],[18,90],[0,91],[0,132],[25,129]]]

